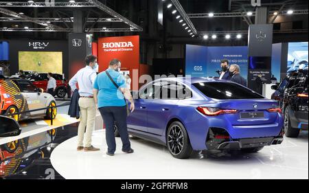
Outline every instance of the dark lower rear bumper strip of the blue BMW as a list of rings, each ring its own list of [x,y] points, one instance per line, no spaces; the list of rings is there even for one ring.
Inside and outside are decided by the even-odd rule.
[[[262,137],[262,138],[247,138],[233,139],[233,141],[212,141],[212,144],[206,143],[208,150],[233,150],[242,148],[257,148],[282,144],[283,137]]]

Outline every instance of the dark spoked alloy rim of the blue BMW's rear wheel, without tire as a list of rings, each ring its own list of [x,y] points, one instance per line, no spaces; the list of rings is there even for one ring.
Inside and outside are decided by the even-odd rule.
[[[170,133],[168,133],[168,147],[172,152],[172,155],[179,155],[183,150],[184,146],[184,139],[183,139],[183,131],[177,125],[172,126],[170,129]]]

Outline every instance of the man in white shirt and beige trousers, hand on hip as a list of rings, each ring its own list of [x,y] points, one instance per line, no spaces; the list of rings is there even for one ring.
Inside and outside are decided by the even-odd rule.
[[[80,69],[73,78],[69,81],[69,85],[74,91],[76,84],[78,84],[80,99],[78,105],[80,106],[80,125],[78,126],[78,151],[84,150],[98,151],[91,144],[91,136],[95,124],[96,106],[93,98],[93,82],[97,78],[95,68],[98,67],[97,57],[93,55],[86,56],[84,63],[86,67]],[[86,133],[85,133],[86,128]]]

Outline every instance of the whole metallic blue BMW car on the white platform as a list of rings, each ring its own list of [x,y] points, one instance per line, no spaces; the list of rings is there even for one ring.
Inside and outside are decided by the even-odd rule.
[[[197,150],[258,152],[283,141],[277,105],[230,81],[163,78],[139,90],[128,131],[167,146],[179,159]]]

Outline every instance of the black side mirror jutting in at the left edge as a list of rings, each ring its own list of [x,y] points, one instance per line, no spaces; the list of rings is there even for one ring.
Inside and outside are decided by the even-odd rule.
[[[0,116],[0,137],[10,137],[21,134],[21,128],[16,120]]]

